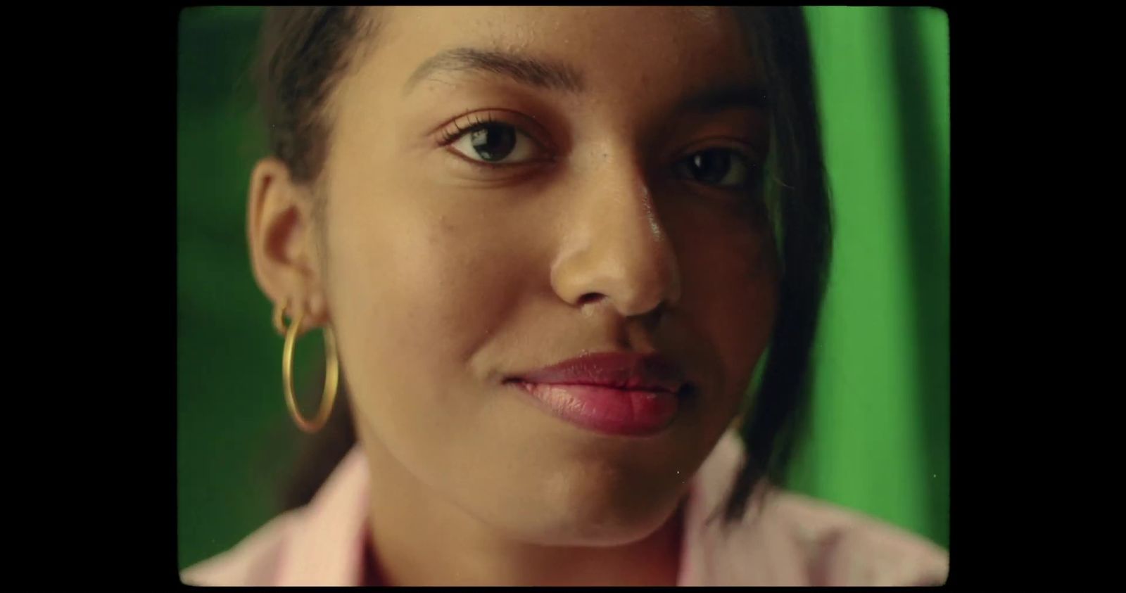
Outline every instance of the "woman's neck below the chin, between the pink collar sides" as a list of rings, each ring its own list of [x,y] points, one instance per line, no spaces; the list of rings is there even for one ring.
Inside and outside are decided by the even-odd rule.
[[[616,547],[566,547],[506,538],[437,498],[378,442],[361,439],[372,476],[369,554],[394,586],[674,585],[682,511],[649,537]],[[682,509],[682,504],[680,509]]]

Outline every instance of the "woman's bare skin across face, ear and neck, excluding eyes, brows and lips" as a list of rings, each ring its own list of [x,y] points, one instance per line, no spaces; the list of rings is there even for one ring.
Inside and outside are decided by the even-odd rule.
[[[330,98],[320,178],[294,183],[279,161],[259,162],[249,235],[266,295],[336,331],[382,578],[673,584],[678,507],[776,312],[758,196],[677,167],[711,147],[766,160],[761,110],[676,109],[757,81],[734,23],[672,7],[378,18]],[[454,47],[561,64],[581,89],[466,69],[408,86]],[[468,141],[439,145],[485,116],[522,131],[513,154],[526,162],[484,168]],[[503,383],[604,351],[660,352],[685,369],[694,394],[668,429],[593,432]]]

